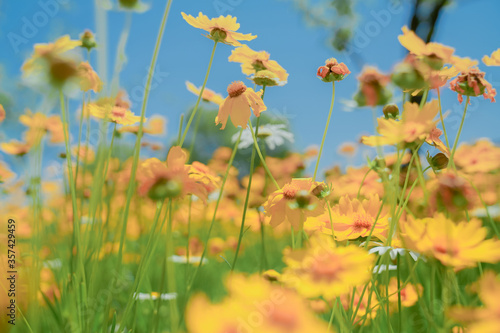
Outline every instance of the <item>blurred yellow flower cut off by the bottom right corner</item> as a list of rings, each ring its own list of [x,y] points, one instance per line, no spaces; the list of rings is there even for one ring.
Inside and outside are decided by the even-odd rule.
[[[476,308],[454,307],[448,316],[468,323],[467,333],[500,332],[500,279],[493,271],[487,271],[478,283],[479,298],[483,305]]]

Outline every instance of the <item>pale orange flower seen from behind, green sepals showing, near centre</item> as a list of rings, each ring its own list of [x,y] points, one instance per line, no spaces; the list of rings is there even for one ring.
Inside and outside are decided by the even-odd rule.
[[[294,178],[280,190],[269,195],[264,203],[267,216],[271,217],[273,227],[283,222],[290,223],[295,230],[300,230],[310,216],[318,216],[324,211],[324,203],[319,198],[324,183],[313,182],[312,178]]]

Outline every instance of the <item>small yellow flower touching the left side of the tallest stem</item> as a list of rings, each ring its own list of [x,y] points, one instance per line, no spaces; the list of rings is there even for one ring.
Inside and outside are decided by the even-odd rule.
[[[133,125],[141,120],[129,110],[130,104],[124,100],[124,92],[119,92],[116,98],[101,98],[96,103],[90,103],[87,108],[91,115],[99,119],[107,119],[119,125]]]

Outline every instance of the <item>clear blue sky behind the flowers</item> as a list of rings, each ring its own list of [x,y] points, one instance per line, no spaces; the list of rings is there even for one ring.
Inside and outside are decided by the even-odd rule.
[[[381,11],[388,12],[389,2],[389,0],[358,1],[356,7],[359,15],[355,35],[357,39],[354,42],[358,47],[357,55],[366,65],[376,65],[385,72],[390,71],[405,55],[397,36],[401,27],[408,24],[410,17],[410,7],[405,1],[405,5],[392,11],[387,22],[383,22],[383,26],[376,17]],[[500,2],[496,0],[455,2],[442,13],[434,40],[454,47],[456,54],[460,56],[474,59],[480,59],[483,55],[491,54],[499,48]],[[47,7],[48,3],[52,6]],[[143,85],[165,2],[155,0],[149,4],[151,5],[149,11],[133,14],[132,17],[132,28],[126,48],[128,61],[121,75],[121,85],[129,91],[134,88],[137,90],[136,87]],[[158,58],[157,70],[160,73],[158,85],[151,92],[147,115],[162,114],[167,117],[168,135],[174,136],[180,114],[186,113],[193,106],[195,97],[186,91],[184,82],[189,80],[201,85],[212,41],[203,37],[201,30],[189,26],[180,13],[197,15],[199,11],[209,17],[220,14],[236,16],[241,24],[241,32],[258,36],[248,45],[254,50],[266,50],[272,59],[277,60],[288,71],[290,74],[288,84],[269,89],[266,92],[266,104],[271,113],[284,115],[289,119],[296,135],[298,150],[313,144],[319,145],[330,105],[331,86],[316,78],[316,69],[330,57],[335,57],[349,66],[352,74],[336,85],[336,105],[320,169],[333,164],[345,165],[346,160],[336,153],[338,146],[345,141],[356,141],[363,133],[373,132],[369,109],[347,112],[348,108],[345,106],[357,89],[356,77],[361,68],[356,66],[349,54],[332,50],[328,46],[328,31],[308,26],[302,13],[294,7],[292,1],[174,0]],[[46,20],[41,14],[43,12],[50,14],[45,15]],[[110,11],[107,18],[108,69],[111,69],[125,13]],[[23,27],[26,29],[26,22],[37,23],[38,26],[34,26],[36,31],[28,31],[30,34],[27,35],[26,31],[23,31]],[[21,113],[25,107],[35,110],[40,107],[41,99],[27,94],[20,81],[19,69],[32,52],[32,45],[53,41],[62,34],[78,38],[84,29],[95,31],[93,1],[0,1],[0,45],[2,45],[0,89],[13,98],[15,104],[12,112]],[[27,38],[13,47],[9,40],[9,36],[12,39],[13,34]],[[231,50],[232,47],[227,45],[217,47],[207,84],[207,87],[223,95],[227,85],[232,81],[246,81],[239,64],[227,61]],[[95,60],[93,57],[94,66]],[[482,64],[480,68],[486,71],[486,78],[493,86],[500,88],[500,68],[486,67]],[[108,76],[110,73],[111,70]],[[398,98],[401,97],[401,93],[395,91],[394,96],[395,102],[400,103]],[[132,96],[131,99],[134,102],[133,111],[139,113],[140,98]],[[442,92],[442,102],[444,110],[451,111],[447,129],[453,139],[458,130],[463,105],[458,103],[456,93],[447,88]],[[77,105],[78,102],[75,101],[75,107]],[[500,123],[498,109],[496,103],[490,103],[482,97],[473,98],[462,140],[473,141],[479,137],[489,137],[498,141]],[[12,126],[9,128],[17,128],[15,125]],[[5,130],[0,127],[0,131],[5,132]],[[10,136],[20,138],[20,133]],[[356,160],[356,163],[361,162],[361,158]]]

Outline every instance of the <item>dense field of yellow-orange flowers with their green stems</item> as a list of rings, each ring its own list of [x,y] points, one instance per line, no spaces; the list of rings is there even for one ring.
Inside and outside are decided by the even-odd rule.
[[[136,5],[125,3],[130,8]],[[459,146],[463,120],[450,145],[439,94],[448,83],[461,102],[466,96],[463,119],[471,97],[483,95],[494,102],[496,90],[477,68],[477,61],[457,57],[451,47],[426,44],[404,27],[399,40],[409,55],[390,75],[374,67],[365,68],[354,95],[359,107],[374,110],[377,133],[363,136],[359,144],[376,147],[378,157],[368,166],[345,171],[333,167],[325,173],[324,181],[318,181],[335,84],[351,73],[347,66],[331,58],[316,73],[333,87],[319,151],[289,153],[283,158],[266,156],[259,146],[259,140],[265,137],[262,133],[259,136],[259,126],[260,115],[267,110],[266,88],[285,85],[288,73],[270,60],[269,53],[241,43],[256,36],[237,32],[240,25],[235,17],[209,19],[202,13],[198,17],[182,16],[191,26],[205,30],[214,48],[203,85],[186,82],[198,101],[185,127],[181,124],[179,137],[169,147],[165,160],[140,159],[141,147],[160,149],[159,144],[141,140],[144,134],[154,138],[164,133],[163,117],[154,115],[148,120],[144,108],[140,115],[134,114],[124,91],[91,101],[90,91],[101,91],[103,83],[88,62],[70,54],[77,47],[87,47],[91,33],[85,33],[79,41],[63,36],[54,43],[36,45],[23,65],[27,78],[49,83],[60,92],[62,119],[28,110],[19,117],[28,128],[24,141],[6,142],[0,147],[6,154],[41,158],[47,135],[51,144],[66,144],[62,157],[68,167],[61,177],[63,193],[57,190],[60,179],[42,179],[41,172],[25,191],[24,184],[14,183],[16,175],[0,161],[0,181],[9,184],[5,192],[12,198],[33,198],[32,207],[12,200],[0,209],[2,221],[10,217],[18,221],[17,237],[35,244],[26,247],[26,251],[34,251],[33,258],[19,267],[36,276],[35,284],[21,281],[37,295],[31,301],[44,306],[61,299],[64,304],[85,299],[88,294],[78,289],[96,282],[98,264],[116,261],[119,269],[124,264],[135,274],[134,285],[127,290],[129,301],[118,307],[122,312],[105,313],[96,322],[103,321],[107,329],[111,322],[116,325],[114,316],[118,315],[120,327],[126,327],[129,315],[135,316],[131,310],[136,302],[133,295],[144,288],[141,283],[145,275],[157,268],[152,267],[151,260],[158,239],[166,235],[160,242],[165,245],[160,257],[164,262],[161,287],[153,279],[148,281],[148,295],[158,302],[169,297],[172,332],[184,324],[193,333],[319,332],[334,327],[356,331],[376,320],[390,326],[392,314],[401,316],[416,304],[424,318],[432,322],[435,313],[427,308],[427,299],[432,304],[441,296],[449,299],[450,294],[452,301],[446,301],[441,309],[445,319],[440,317],[442,322],[429,324],[431,330],[441,325],[443,331],[461,327],[469,327],[467,332],[500,331],[500,281],[494,266],[500,262],[500,241],[498,214],[492,211],[498,208],[500,196],[500,148],[488,140]],[[241,81],[232,82],[225,98],[206,88],[219,43],[235,47],[228,60],[241,64],[242,73],[249,76],[254,88]],[[500,50],[485,56],[483,62],[499,66]],[[404,92],[401,110],[389,104],[390,83]],[[83,93],[84,103],[79,114],[78,144],[70,149],[64,91],[75,87]],[[427,101],[432,91],[437,92],[438,99]],[[419,96],[421,102],[406,101],[410,95]],[[206,164],[192,161],[190,150],[183,147],[200,101],[218,107],[214,122],[221,129],[229,119],[235,127],[241,127],[234,148],[217,148]],[[383,106],[383,116],[378,119],[377,106]],[[101,128],[112,124],[109,146],[92,147],[88,141],[81,144],[82,123],[85,120],[88,129],[90,116],[100,122]],[[0,122],[4,118],[5,110],[0,105]],[[250,172],[242,177],[233,161],[244,130],[250,132],[253,147]],[[125,133],[136,134],[137,141],[131,156],[119,159],[113,156],[114,142]],[[193,136],[195,133],[196,129]],[[424,144],[440,151],[427,156],[427,168],[419,154]],[[382,146],[392,147],[395,153],[384,156]],[[346,143],[341,152],[353,156],[356,147]],[[305,166],[316,155],[314,175],[305,177]],[[41,162],[37,163],[41,168]],[[66,244],[67,239],[72,242]],[[137,245],[144,239],[147,245]],[[64,245],[65,256],[71,259],[64,271],[68,274],[56,275],[46,264],[53,264],[56,254],[61,253],[53,243],[57,248]],[[269,250],[269,245],[274,250]],[[240,252],[250,254],[237,266]],[[270,253],[275,256],[270,258]],[[232,262],[226,257],[233,258]],[[187,267],[182,277],[185,289],[176,288],[183,274],[175,268],[179,263]],[[196,288],[198,273],[211,265],[216,267],[213,270],[229,267],[231,272],[245,265],[241,270],[252,274],[230,274],[224,284],[227,295],[210,300],[193,291],[203,289]],[[485,272],[483,265],[488,268]],[[473,303],[462,300],[465,288],[459,290],[462,286],[457,281],[457,274],[466,270],[482,276],[476,288],[482,307],[464,307]],[[422,272],[429,271],[430,279],[423,279]],[[210,274],[208,270],[206,274]],[[436,288],[436,277],[447,284]],[[92,293],[96,288],[90,286],[88,290]],[[165,291],[162,288],[168,293],[161,294]],[[184,304],[178,295],[182,295]],[[25,309],[26,305],[19,306]],[[103,309],[110,307],[111,302]],[[401,317],[398,323],[404,325]]]

